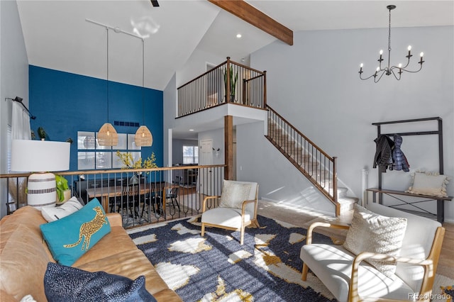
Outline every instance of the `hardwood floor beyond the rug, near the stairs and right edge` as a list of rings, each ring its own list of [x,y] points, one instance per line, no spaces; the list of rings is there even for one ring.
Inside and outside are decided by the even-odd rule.
[[[270,201],[259,201],[258,214],[268,218],[282,220],[293,225],[298,225],[302,228],[308,228],[311,223],[318,220],[336,220],[336,218],[331,216],[323,216],[319,213],[295,210],[294,208],[289,208],[288,206],[279,205],[278,203]],[[341,217],[338,218],[338,220],[348,222],[351,220],[351,216]],[[443,223],[443,227],[445,228],[445,237],[443,239],[440,259],[438,261],[437,274],[454,279],[454,224]],[[321,233],[323,233],[323,231]],[[323,233],[323,235],[335,237],[338,240],[345,240],[346,232],[334,231],[330,233]]]

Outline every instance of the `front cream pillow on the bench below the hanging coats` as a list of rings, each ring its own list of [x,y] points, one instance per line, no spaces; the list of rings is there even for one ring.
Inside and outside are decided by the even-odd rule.
[[[446,184],[448,184],[448,177],[443,174],[440,175],[436,172],[414,172],[413,184],[406,192],[411,194],[447,197]]]

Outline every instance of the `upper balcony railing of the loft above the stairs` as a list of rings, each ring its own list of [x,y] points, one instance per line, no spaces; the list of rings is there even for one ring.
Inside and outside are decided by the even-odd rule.
[[[178,88],[178,117],[222,104],[266,106],[266,72],[226,62]]]

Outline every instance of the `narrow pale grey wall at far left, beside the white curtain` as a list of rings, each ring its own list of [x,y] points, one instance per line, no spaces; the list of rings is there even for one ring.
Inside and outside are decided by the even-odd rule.
[[[11,101],[20,96],[28,107],[28,59],[16,1],[0,1],[0,150],[7,150]],[[0,154],[0,173],[7,173],[6,152]],[[0,216],[6,215],[6,181],[0,183]]]

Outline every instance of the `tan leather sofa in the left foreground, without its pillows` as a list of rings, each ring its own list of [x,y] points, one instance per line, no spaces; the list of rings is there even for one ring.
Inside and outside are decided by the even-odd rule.
[[[96,243],[72,267],[89,272],[107,272],[130,279],[145,276],[146,289],[157,301],[182,301],[168,288],[142,251],[121,225],[118,213],[107,214],[111,232]],[[41,235],[47,223],[40,211],[26,206],[0,221],[0,301],[21,301],[30,294],[46,301],[44,274],[48,262],[55,262]]]

